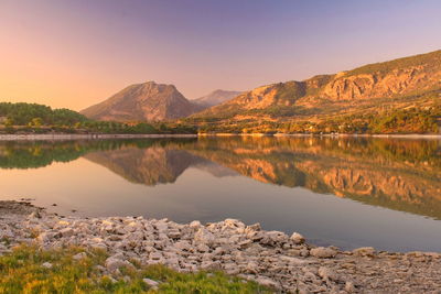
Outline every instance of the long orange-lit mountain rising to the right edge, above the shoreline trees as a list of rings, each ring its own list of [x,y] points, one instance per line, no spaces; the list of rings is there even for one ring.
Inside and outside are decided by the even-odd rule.
[[[348,122],[363,117],[363,124],[369,124],[372,116],[386,117],[395,110],[440,112],[440,80],[441,51],[437,51],[302,81],[258,87],[201,111],[192,120],[216,126],[236,121],[251,127],[299,121],[315,128],[324,120],[342,124],[342,118],[353,116]]]

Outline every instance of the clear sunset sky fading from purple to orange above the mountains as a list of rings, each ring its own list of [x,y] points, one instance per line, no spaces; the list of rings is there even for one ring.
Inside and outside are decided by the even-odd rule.
[[[0,101],[189,99],[441,48],[439,0],[0,0]]]

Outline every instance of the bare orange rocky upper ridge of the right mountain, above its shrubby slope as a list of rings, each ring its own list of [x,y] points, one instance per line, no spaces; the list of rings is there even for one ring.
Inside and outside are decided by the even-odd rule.
[[[236,116],[240,119],[238,117],[248,110],[271,107],[314,109],[326,102],[396,99],[433,89],[441,89],[441,51],[366,65],[335,75],[314,76],[302,81],[261,86],[195,117]]]

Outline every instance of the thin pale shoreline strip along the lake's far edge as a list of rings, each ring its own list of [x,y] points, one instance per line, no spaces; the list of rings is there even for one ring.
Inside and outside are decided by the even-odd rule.
[[[175,133],[175,134],[108,134],[108,133],[28,133],[0,134],[0,141],[52,141],[52,140],[105,140],[105,139],[159,139],[159,138],[198,138],[198,137],[325,137],[325,138],[397,138],[397,139],[435,139],[441,134],[368,134],[368,133]]]

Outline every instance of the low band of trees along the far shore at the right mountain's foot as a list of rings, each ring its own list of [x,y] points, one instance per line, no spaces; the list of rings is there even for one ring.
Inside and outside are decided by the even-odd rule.
[[[280,117],[301,111],[295,108],[269,108],[268,116],[280,113]],[[259,111],[254,111],[258,113]],[[194,121],[193,121],[194,123]],[[391,109],[380,113],[326,116],[320,120],[287,119],[278,120],[241,120],[241,121],[204,121],[196,122],[201,133],[439,133],[441,131],[440,108]]]

